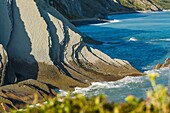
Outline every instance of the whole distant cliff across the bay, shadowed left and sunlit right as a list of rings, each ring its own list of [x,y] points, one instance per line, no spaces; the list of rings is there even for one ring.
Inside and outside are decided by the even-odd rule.
[[[157,11],[170,8],[169,0],[52,0],[68,19],[104,18],[113,12]]]

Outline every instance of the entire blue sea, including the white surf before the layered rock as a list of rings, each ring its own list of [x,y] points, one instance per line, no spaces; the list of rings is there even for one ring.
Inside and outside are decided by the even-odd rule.
[[[77,27],[94,40],[103,42],[88,46],[112,58],[127,60],[143,73],[159,73],[156,83],[170,88],[170,69],[153,70],[156,64],[170,58],[170,12],[116,14],[109,15],[108,20]],[[128,95],[146,98],[151,88],[146,76],[127,76],[118,81],[95,82],[87,88],[76,87],[73,93],[86,97],[104,94],[109,102],[123,102]]]

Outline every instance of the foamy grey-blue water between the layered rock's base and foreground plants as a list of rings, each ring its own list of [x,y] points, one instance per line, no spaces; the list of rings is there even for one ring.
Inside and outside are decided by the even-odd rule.
[[[153,72],[160,74],[160,77],[156,79],[157,84],[163,84],[169,87],[169,68],[145,71],[146,74]],[[113,82],[94,82],[87,88],[76,87],[73,94],[81,93],[86,97],[105,94],[110,102],[120,102],[129,94],[133,94],[138,98],[145,98],[146,91],[149,89],[151,89],[151,84],[146,76],[127,76],[121,80]],[[170,92],[170,89],[168,91]],[[119,94],[121,95],[117,96]]]

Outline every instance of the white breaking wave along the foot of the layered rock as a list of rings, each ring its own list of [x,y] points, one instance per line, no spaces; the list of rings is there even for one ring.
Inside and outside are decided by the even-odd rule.
[[[169,68],[163,68],[159,70],[148,70],[148,71],[145,71],[144,73],[149,74],[153,72],[159,73],[160,76],[168,77],[170,75]],[[86,87],[86,88],[76,87],[73,93],[82,93],[84,95],[88,95],[90,92],[95,92],[97,94],[100,94],[99,90],[102,90],[103,92],[103,90],[107,90],[107,89],[126,89],[126,88],[133,89],[133,88],[140,87],[140,84],[145,85],[147,82],[148,82],[148,79],[146,76],[138,76],[138,77],[127,76],[118,81],[93,82],[89,87]],[[147,87],[149,88],[150,86],[147,86]],[[146,90],[147,90],[147,87],[145,87]]]

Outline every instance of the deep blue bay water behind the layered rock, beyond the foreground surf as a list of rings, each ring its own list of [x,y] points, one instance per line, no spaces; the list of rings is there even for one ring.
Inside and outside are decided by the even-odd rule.
[[[78,27],[84,34],[104,42],[90,46],[112,58],[128,60],[141,71],[170,57],[170,12],[121,14],[108,18],[119,22]]]

